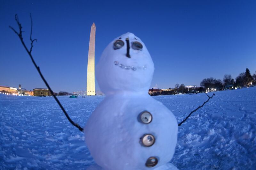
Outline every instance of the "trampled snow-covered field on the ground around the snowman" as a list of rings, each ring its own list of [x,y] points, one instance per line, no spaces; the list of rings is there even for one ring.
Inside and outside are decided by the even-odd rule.
[[[208,93],[211,95],[211,93]],[[207,96],[155,96],[177,121]],[[104,96],[59,97],[82,127]],[[52,97],[0,94],[0,169],[86,169],[94,163],[83,133],[73,127]],[[256,168],[256,87],[216,92],[179,127],[171,162],[179,169]]]

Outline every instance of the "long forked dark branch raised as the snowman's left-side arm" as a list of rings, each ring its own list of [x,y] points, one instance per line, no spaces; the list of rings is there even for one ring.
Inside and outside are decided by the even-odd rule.
[[[23,38],[22,38],[22,32],[23,32],[23,31],[22,31],[22,26],[21,26],[21,24],[20,24],[20,22],[19,22],[19,18],[18,18],[18,15],[17,15],[17,14],[15,14],[15,21],[17,22],[17,24],[18,24],[18,26],[19,26],[19,33],[18,33],[12,26],[9,26],[9,27],[14,31],[14,33],[16,33],[16,34],[19,36],[20,41],[21,41],[23,47],[26,49],[28,55],[30,56],[30,59],[32,60],[34,66],[36,67],[36,70],[38,71],[39,75],[40,75],[41,78],[43,79],[44,84],[45,84],[45,85],[47,86],[47,88],[50,90],[50,92],[51,92],[53,98],[56,100],[56,102],[59,104],[61,110],[64,112],[65,116],[68,118],[68,121],[69,121],[72,125],[76,126],[80,131],[83,131],[83,130],[84,130],[83,128],[81,128],[77,123],[73,122],[73,121],[70,119],[70,117],[68,116],[68,113],[66,112],[66,110],[64,109],[64,107],[61,105],[60,101],[59,101],[59,100],[57,99],[57,97],[53,94],[53,91],[52,91],[51,87],[49,86],[49,84],[47,83],[47,81],[44,79],[43,74],[41,73],[39,67],[36,65],[36,62],[35,62],[33,56],[31,55],[32,48],[33,48],[33,42],[36,40],[36,39],[32,40],[32,38],[31,38],[31,37],[32,37],[32,25],[33,25],[31,14],[30,14],[30,20],[31,20],[31,31],[30,31],[31,47],[30,47],[30,50],[28,50],[26,44],[25,44],[24,41],[23,41]]]

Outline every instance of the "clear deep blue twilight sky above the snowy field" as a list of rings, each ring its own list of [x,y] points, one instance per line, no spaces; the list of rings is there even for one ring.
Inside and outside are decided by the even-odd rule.
[[[18,14],[33,56],[54,92],[86,90],[90,29],[96,24],[95,63],[117,36],[146,44],[155,73],[151,87],[199,85],[203,78],[236,78],[256,70],[256,1],[6,1],[0,0],[0,85],[45,85],[17,35]],[[96,82],[96,90],[99,86]]]

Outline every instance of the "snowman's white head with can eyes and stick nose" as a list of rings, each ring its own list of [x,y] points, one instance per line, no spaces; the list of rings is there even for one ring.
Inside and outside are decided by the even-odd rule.
[[[96,78],[105,94],[148,93],[154,63],[145,44],[133,33],[125,33],[103,51],[96,66]]]

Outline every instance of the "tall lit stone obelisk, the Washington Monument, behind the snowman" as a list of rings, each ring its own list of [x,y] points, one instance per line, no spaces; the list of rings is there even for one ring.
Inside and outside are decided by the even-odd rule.
[[[91,26],[89,52],[88,52],[88,64],[87,64],[87,86],[86,94],[95,96],[95,75],[94,75],[94,54],[95,54],[95,32],[96,26],[93,23]]]

